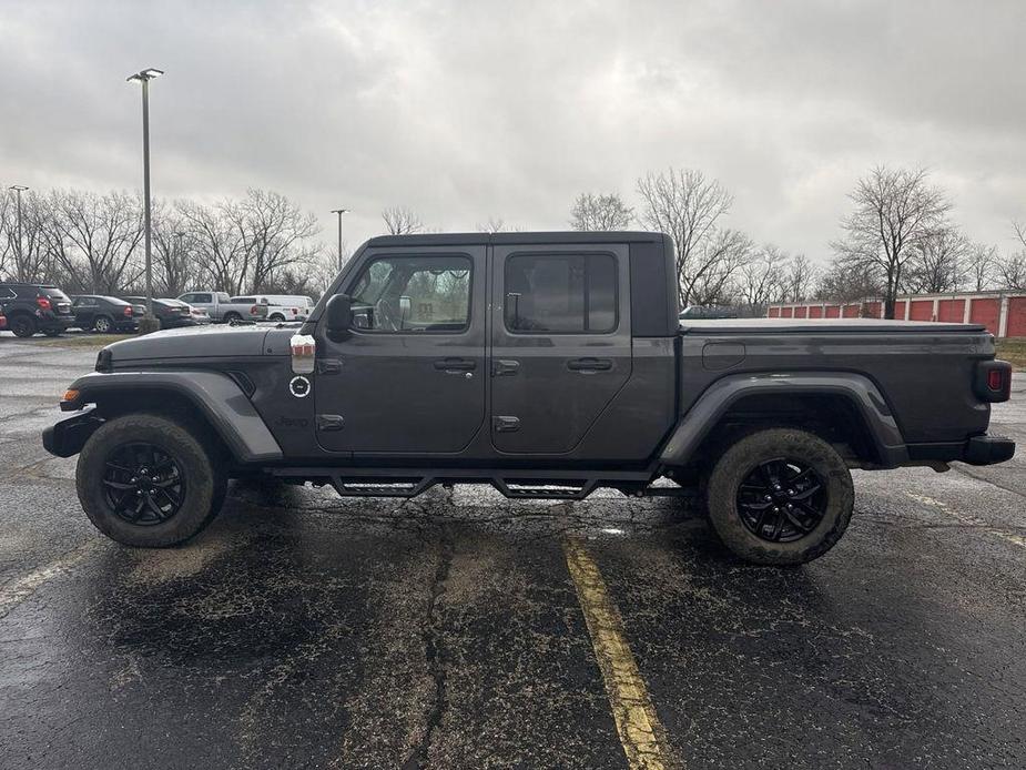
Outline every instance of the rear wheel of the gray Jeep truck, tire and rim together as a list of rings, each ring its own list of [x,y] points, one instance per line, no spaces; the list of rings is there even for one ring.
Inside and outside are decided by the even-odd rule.
[[[717,535],[746,561],[803,564],[830,550],[847,528],[852,475],[836,450],[812,433],[760,430],[717,460],[708,507]]]

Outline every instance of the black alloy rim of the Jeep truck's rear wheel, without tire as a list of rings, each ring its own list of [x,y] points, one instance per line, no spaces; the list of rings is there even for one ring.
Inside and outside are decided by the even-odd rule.
[[[738,488],[745,528],[768,543],[793,543],[826,515],[829,485],[807,463],[779,457],[756,465]]]

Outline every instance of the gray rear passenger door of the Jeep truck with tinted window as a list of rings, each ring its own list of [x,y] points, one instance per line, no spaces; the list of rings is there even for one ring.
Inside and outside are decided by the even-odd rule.
[[[497,245],[492,305],[492,446],[571,452],[630,377],[627,246]]]

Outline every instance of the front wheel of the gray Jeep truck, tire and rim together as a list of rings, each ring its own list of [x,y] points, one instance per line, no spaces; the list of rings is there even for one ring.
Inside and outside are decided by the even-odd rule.
[[[128,546],[173,546],[201,531],[226,482],[215,453],[177,422],[131,414],[104,423],[79,455],[75,485],[85,515]]]

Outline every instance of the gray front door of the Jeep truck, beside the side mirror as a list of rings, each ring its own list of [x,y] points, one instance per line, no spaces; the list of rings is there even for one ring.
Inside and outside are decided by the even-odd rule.
[[[342,291],[353,327],[317,328],[328,452],[458,454],[485,423],[485,246],[364,252]]]

